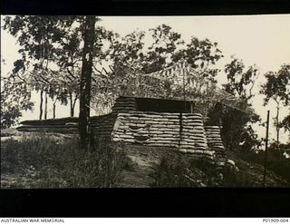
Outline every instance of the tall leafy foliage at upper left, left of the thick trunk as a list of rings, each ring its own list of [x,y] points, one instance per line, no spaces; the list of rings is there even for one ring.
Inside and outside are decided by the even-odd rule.
[[[59,54],[59,45],[69,31],[76,16],[15,15],[5,16],[4,29],[17,38],[22,46],[18,51],[22,55],[14,62],[14,73],[23,69],[26,83],[36,91],[47,93],[51,98],[66,103],[65,90],[60,83],[52,82],[53,73],[49,66]],[[53,65],[53,64],[52,64]],[[42,103],[42,102],[41,102]],[[42,105],[41,105],[42,107]]]

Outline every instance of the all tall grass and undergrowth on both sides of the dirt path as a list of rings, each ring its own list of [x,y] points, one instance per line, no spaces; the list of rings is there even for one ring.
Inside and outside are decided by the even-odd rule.
[[[95,139],[89,151],[80,149],[77,136],[63,139],[47,133],[1,145],[1,172],[4,177],[15,177],[9,184],[2,178],[2,188],[111,188],[120,186],[122,170],[134,170],[123,146],[102,139]],[[251,164],[264,161],[263,152],[243,151],[238,157]],[[269,151],[267,169],[288,183],[289,165],[289,160]],[[208,161],[167,151],[150,173],[151,187],[261,187],[256,174],[245,169],[217,169]]]

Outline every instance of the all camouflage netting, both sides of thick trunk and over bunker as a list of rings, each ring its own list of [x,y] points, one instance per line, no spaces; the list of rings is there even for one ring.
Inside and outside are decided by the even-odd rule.
[[[30,80],[20,82],[35,83],[46,89],[51,86],[75,89],[79,86],[80,77],[70,73],[60,75],[59,72],[41,71],[31,73]],[[113,93],[116,96],[201,102],[208,108],[220,102],[238,111],[249,112],[247,105],[218,88],[216,83],[184,60],[155,73],[141,73],[117,64],[111,67],[111,72],[102,70],[96,78],[92,78],[92,88],[99,93]]]

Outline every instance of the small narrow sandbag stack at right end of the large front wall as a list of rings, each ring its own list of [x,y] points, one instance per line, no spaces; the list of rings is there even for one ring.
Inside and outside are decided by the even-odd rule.
[[[225,147],[220,137],[220,130],[218,126],[205,126],[208,147],[212,151],[216,151],[217,155],[224,156]]]

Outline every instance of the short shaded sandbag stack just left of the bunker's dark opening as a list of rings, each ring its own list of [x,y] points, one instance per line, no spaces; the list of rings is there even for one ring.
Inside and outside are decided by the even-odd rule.
[[[119,97],[116,99],[111,113],[117,115],[119,112],[131,112],[137,111],[137,104],[135,98],[130,97]]]

